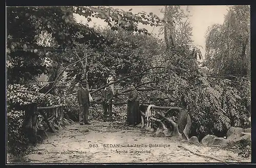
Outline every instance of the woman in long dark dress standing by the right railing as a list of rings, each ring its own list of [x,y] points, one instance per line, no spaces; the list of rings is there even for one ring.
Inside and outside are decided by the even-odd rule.
[[[141,114],[139,111],[139,100],[138,91],[135,89],[134,85],[131,85],[131,93],[128,99],[128,109],[127,109],[127,122],[130,126],[136,126],[141,122]]]

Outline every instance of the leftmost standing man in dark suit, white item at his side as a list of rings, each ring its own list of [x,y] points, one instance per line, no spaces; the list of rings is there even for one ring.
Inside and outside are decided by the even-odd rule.
[[[86,84],[87,84],[87,80],[82,80],[80,85],[78,86],[78,91],[77,91],[78,103],[80,107],[80,113],[79,113],[80,125],[91,124],[88,121],[90,101],[89,101],[89,91],[86,87]]]

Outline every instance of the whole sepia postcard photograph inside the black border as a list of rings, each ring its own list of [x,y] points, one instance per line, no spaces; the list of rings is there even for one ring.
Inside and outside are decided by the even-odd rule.
[[[6,164],[250,163],[250,6],[6,6]]]

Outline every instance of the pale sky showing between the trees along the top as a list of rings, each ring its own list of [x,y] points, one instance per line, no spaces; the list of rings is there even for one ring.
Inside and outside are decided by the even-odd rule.
[[[153,12],[158,17],[162,18],[163,14],[160,12],[164,6],[111,6],[113,8],[122,9],[124,11],[128,11],[129,9],[133,9],[131,12],[136,14],[138,12],[146,12],[149,14]],[[182,8],[186,9],[186,6],[182,6]],[[189,17],[189,21],[191,26],[193,27],[193,37],[194,45],[202,46],[203,48],[199,48],[202,52],[202,55],[205,54],[205,33],[207,31],[207,27],[219,23],[222,24],[224,21],[224,15],[227,14],[227,6],[188,6],[188,10],[190,11],[191,17]],[[75,15],[78,22],[82,21],[87,23],[87,19],[83,16]],[[89,22],[89,25],[93,25],[94,23],[98,25],[105,26],[105,23],[101,19],[92,18],[92,21]],[[145,28],[150,33],[155,33],[158,35],[160,27],[152,27],[150,25],[139,25],[140,28]],[[152,32],[153,31],[153,32]],[[161,35],[159,38],[163,38]]]

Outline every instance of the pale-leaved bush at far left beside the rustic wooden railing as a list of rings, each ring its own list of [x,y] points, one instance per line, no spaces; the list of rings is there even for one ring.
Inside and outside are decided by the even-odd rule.
[[[26,150],[28,139],[22,134],[22,125],[25,115],[24,105],[37,102],[38,106],[52,106],[62,102],[60,97],[35,93],[37,86],[9,85],[7,88],[7,150],[19,154]],[[42,117],[38,116],[38,124]]]

